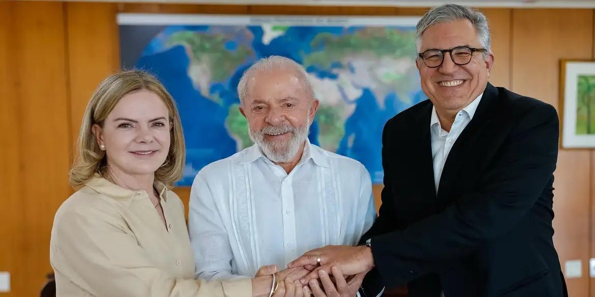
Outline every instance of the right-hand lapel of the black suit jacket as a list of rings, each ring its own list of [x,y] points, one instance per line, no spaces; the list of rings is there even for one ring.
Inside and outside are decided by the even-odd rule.
[[[446,159],[446,163],[444,163],[437,192],[439,200],[450,196],[449,193],[452,192],[457,181],[461,178],[462,167],[468,160],[471,160],[473,154],[480,153],[483,150],[484,143],[488,143],[486,139],[490,137],[490,134],[483,133],[483,131],[491,122],[497,99],[498,90],[488,83],[473,118],[457,138]]]

